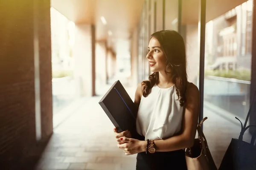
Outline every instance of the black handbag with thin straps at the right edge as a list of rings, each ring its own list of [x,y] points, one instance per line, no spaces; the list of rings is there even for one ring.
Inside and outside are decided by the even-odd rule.
[[[256,130],[252,135],[250,143],[243,141],[244,132],[250,127],[256,127],[256,125],[248,125],[250,112],[252,106],[255,103],[256,91],[254,93],[253,102],[250,106],[244,125],[241,123],[241,132],[238,139],[232,139],[226,153],[221,161],[221,165],[218,170],[256,170],[256,145],[254,145]],[[256,103],[255,103],[256,104]]]

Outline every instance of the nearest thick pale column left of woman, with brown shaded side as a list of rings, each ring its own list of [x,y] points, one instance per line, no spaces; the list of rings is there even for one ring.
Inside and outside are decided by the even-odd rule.
[[[76,24],[74,45],[74,77],[77,82],[77,95],[95,95],[95,39],[92,34],[94,27],[87,24]]]

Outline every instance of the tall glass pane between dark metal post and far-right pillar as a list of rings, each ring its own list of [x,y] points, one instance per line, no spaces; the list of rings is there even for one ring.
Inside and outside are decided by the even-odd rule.
[[[235,116],[244,123],[250,107],[251,13],[249,0],[206,25],[204,117],[209,119],[204,133],[217,166],[231,139],[239,137],[241,125]],[[246,132],[244,140],[249,136]]]

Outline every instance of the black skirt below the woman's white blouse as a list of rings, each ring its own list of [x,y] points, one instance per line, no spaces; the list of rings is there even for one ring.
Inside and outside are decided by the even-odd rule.
[[[138,153],[136,170],[187,170],[185,152]]]

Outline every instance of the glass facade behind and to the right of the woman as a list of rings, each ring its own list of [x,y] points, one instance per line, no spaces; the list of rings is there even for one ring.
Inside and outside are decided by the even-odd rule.
[[[186,45],[188,80],[199,88],[200,25],[195,16],[190,18],[189,12],[179,18],[178,3],[179,0],[145,0],[138,27],[138,82],[148,79],[151,74],[146,59],[150,34],[173,29],[181,31]],[[215,4],[215,8],[218,6],[221,4]],[[239,136],[241,127],[235,116],[244,122],[251,95],[253,0],[235,8],[225,8],[224,13],[207,20],[203,47],[205,75],[202,107],[203,117],[209,118],[204,123],[204,133],[217,166],[230,140]],[[209,16],[213,15],[206,11],[206,18]],[[181,28],[179,23],[182,23]],[[247,139],[250,139],[248,132],[244,136],[244,140]]]

